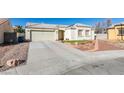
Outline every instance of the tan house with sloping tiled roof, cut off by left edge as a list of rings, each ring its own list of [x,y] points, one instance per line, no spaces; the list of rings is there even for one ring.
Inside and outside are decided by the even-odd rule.
[[[0,18],[0,43],[4,42],[4,32],[12,31],[11,23],[6,18]]]

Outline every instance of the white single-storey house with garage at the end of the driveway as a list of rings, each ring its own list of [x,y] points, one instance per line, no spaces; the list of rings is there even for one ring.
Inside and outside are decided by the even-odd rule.
[[[27,23],[25,39],[31,41],[42,40],[93,40],[94,31],[88,25],[54,25]]]

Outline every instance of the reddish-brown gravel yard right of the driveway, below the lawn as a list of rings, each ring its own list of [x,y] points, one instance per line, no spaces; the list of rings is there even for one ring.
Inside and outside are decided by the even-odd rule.
[[[68,44],[70,47],[74,47],[83,51],[105,51],[105,50],[124,50],[124,47],[120,47],[119,45],[115,45],[111,42],[104,41],[104,40],[98,40],[97,46],[98,48],[96,49],[96,42],[92,41],[90,43],[86,44],[78,44],[78,45],[73,45],[73,44]]]

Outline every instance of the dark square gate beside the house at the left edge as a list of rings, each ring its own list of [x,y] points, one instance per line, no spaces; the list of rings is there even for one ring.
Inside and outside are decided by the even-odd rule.
[[[4,43],[5,44],[17,43],[16,32],[4,32]]]

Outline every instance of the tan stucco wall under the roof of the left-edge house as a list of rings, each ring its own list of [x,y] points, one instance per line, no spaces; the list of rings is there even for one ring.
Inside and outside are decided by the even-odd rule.
[[[12,27],[9,21],[0,24],[0,43],[3,43],[4,32],[12,31]]]

